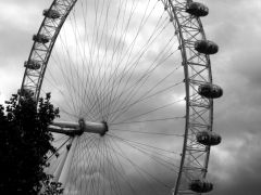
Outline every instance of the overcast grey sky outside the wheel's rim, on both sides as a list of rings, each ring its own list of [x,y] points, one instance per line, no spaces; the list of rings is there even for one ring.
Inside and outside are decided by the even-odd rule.
[[[220,46],[212,56],[215,83],[224,96],[214,103],[214,131],[222,144],[211,151],[209,178],[213,195],[261,192],[261,1],[203,0],[207,37]],[[21,87],[23,63],[41,12],[51,0],[0,1],[0,102]]]

